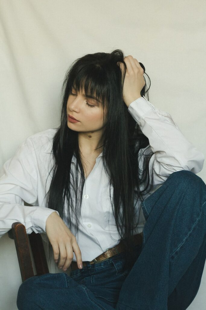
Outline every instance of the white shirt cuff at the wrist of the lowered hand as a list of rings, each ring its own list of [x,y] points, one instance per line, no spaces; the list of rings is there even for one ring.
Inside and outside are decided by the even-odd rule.
[[[38,207],[32,216],[33,231],[36,233],[46,233],[46,220],[53,212],[57,212],[59,215],[59,212],[56,210]]]

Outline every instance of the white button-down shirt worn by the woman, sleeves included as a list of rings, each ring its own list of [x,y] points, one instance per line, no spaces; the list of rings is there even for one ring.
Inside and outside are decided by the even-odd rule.
[[[203,153],[187,141],[169,113],[155,108],[145,97],[133,101],[128,112],[149,139],[150,146],[145,153],[151,150],[154,153],[150,160],[150,165],[154,163],[153,191],[175,171],[189,170],[198,173],[202,170]],[[53,166],[51,151],[56,131],[48,129],[28,137],[14,157],[4,164],[0,178],[0,236],[8,232],[14,222],[23,223],[28,234],[32,231],[46,233],[46,220],[55,212],[47,207],[45,194],[51,183],[51,175],[48,174]],[[144,149],[139,155],[143,151]],[[83,188],[79,234],[76,236],[83,261],[93,260],[120,241],[102,156],[103,153],[96,158],[95,166]],[[140,158],[141,169],[142,162]],[[76,157],[73,156],[73,171],[75,165]],[[111,189],[113,190],[112,187]],[[32,206],[24,206],[24,201]],[[140,210],[136,233],[140,233],[143,231],[145,218],[140,202],[136,207]],[[67,224],[66,219],[63,220]],[[71,231],[74,233],[73,229]],[[73,261],[76,261],[75,254]]]

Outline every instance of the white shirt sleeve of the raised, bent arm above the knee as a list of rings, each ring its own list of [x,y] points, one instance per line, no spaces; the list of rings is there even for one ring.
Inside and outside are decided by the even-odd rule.
[[[146,153],[154,153],[149,162],[150,166],[153,165],[154,185],[162,184],[175,171],[198,173],[202,170],[203,153],[184,137],[168,112],[155,108],[145,96],[133,101],[128,112],[149,139]]]

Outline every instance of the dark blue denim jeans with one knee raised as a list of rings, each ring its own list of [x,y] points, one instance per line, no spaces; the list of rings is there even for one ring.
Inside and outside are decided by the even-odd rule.
[[[206,259],[206,185],[191,171],[172,173],[142,202],[146,223],[137,260],[124,253],[83,269],[47,273],[19,287],[19,310],[185,310]]]

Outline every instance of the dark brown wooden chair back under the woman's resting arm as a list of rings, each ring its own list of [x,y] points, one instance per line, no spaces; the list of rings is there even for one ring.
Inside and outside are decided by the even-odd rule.
[[[21,272],[22,282],[33,276],[40,276],[48,273],[48,265],[44,246],[40,233],[32,232],[27,235],[25,226],[19,222],[12,224],[12,229],[8,232],[11,239],[14,239],[17,257],[19,261],[19,268]],[[29,248],[29,242],[33,254],[34,264],[36,268],[36,275],[32,266],[32,257]]]

